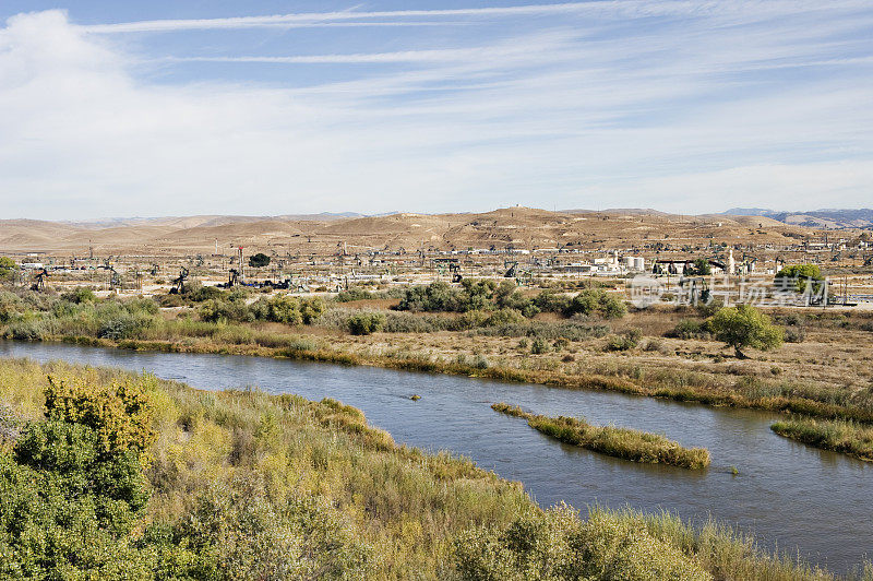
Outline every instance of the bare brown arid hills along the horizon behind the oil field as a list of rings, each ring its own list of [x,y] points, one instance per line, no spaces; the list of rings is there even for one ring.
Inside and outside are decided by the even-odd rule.
[[[856,238],[860,232],[839,236]],[[193,216],[92,223],[0,221],[0,251],[83,256],[251,250],[325,253],[370,250],[633,248],[699,242],[789,245],[818,238],[811,227],[763,216],[681,216],[641,210],[549,212],[509,208],[481,214],[383,216]]]

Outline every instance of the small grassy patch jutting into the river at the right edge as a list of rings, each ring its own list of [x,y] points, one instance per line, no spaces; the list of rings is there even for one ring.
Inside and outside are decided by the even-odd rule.
[[[770,429],[823,450],[832,450],[873,462],[873,427],[854,422],[793,418],[776,422]]]

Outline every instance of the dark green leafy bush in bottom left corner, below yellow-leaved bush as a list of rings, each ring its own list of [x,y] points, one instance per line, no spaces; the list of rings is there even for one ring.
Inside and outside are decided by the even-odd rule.
[[[28,426],[0,454],[0,576],[146,579],[130,533],[147,500],[135,455],[101,458],[96,435],[61,422]]]

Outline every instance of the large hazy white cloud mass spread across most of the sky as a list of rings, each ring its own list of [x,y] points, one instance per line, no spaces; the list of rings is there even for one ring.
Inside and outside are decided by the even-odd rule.
[[[0,29],[4,217],[869,205],[870,43],[840,32],[873,15],[726,26],[786,4],[716,4],[715,22],[624,36],[586,21],[439,50],[195,57],[375,68],[296,88],[155,84],[119,37],[19,15]],[[715,10],[661,9],[682,5]],[[828,74],[758,74],[810,67]]]

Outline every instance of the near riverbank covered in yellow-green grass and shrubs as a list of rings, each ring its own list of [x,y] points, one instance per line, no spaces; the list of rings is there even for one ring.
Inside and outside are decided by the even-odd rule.
[[[48,376],[77,388],[52,391]],[[94,401],[101,406],[73,413]],[[333,400],[204,392],[111,369],[0,359],[0,404],[4,578],[836,579],[713,522],[692,529],[670,514],[540,510],[518,485],[464,459],[397,446]],[[107,413],[112,420],[89,437],[95,414]],[[139,500],[124,501],[129,514],[107,501],[117,486],[93,486],[107,479],[104,464],[70,472],[91,456],[52,440],[58,430],[128,460],[147,431],[141,476],[135,462],[118,464],[128,481],[143,479]],[[120,482],[113,474],[109,482]],[[92,499],[84,505],[83,489]],[[46,506],[85,517],[70,523],[69,511]],[[130,520],[119,521],[122,513]],[[29,519],[41,526],[28,527]],[[869,570],[860,578],[873,579]]]

